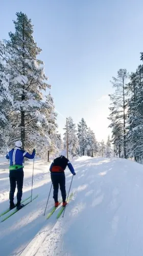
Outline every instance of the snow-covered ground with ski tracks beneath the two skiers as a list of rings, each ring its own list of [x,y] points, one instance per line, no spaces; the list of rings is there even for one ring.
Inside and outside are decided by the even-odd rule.
[[[73,161],[74,198],[64,218],[43,216],[51,179],[37,160],[31,204],[0,223],[2,256],[142,256],[143,166],[125,159],[82,157]],[[23,198],[31,193],[33,162],[25,165]],[[8,162],[0,159],[0,212],[9,206]],[[71,174],[66,170],[68,191]],[[53,206],[52,194],[46,213]]]

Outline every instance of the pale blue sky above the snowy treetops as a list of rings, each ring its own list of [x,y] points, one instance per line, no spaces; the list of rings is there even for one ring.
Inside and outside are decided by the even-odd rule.
[[[5,0],[1,9],[1,39],[14,31],[16,12],[32,20],[58,111],[76,123],[84,117],[97,139],[106,140],[110,80],[118,69],[140,64],[142,0]],[[64,123],[58,116],[60,132]]]

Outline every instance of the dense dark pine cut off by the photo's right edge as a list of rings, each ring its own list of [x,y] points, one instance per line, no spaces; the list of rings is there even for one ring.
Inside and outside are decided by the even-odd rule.
[[[138,162],[143,158],[143,66],[139,65],[130,76],[129,90],[129,124],[128,124],[128,156]]]

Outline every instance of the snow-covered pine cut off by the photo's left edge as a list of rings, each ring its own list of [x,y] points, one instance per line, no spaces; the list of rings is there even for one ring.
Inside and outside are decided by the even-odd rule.
[[[3,147],[6,147],[9,122],[8,109],[13,103],[9,90],[9,66],[6,60],[6,48],[0,41],[0,152],[3,152]]]

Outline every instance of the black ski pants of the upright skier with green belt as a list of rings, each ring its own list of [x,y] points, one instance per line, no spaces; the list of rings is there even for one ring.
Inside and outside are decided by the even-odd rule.
[[[17,183],[17,205],[20,205],[21,197],[22,197],[22,187],[23,187],[23,169],[18,170],[11,170],[9,174],[10,178],[10,193],[9,193],[9,199],[10,204],[13,204],[14,200],[14,192],[16,188]]]

